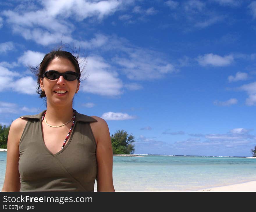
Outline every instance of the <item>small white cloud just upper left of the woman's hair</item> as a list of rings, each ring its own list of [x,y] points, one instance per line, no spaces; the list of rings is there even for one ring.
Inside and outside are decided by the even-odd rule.
[[[25,51],[22,56],[18,58],[18,62],[22,63],[25,67],[36,67],[43,60],[45,54],[37,51]]]

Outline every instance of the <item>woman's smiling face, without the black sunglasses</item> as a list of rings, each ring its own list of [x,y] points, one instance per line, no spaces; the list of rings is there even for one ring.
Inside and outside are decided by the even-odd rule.
[[[72,62],[61,57],[54,58],[45,69],[45,71],[48,70],[55,70],[59,73],[76,72]],[[45,91],[47,105],[72,105],[74,94],[79,90],[79,85],[78,80],[68,81],[63,76],[56,80],[50,80],[46,77],[40,79],[40,87]]]

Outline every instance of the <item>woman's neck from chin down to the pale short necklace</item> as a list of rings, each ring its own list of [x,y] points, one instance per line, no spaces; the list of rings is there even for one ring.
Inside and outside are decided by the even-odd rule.
[[[47,123],[51,125],[61,125],[70,120],[73,116],[72,105],[70,107],[51,107],[47,104],[45,117],[47,118]]]

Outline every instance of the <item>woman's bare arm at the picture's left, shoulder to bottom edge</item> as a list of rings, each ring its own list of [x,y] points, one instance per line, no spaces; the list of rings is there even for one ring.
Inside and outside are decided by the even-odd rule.
[[[25,128],[26,120],[17,118],[10,126],[7,141],[6,172],[2,191],[19,191],[19,140]]]

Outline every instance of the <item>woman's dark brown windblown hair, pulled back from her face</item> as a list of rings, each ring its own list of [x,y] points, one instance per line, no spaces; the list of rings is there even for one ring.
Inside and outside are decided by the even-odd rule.
[[[47,53],[45,55],[45,57],[43,58],[42,62],[37,66],[37,67],[29,67],[29,69],[35,74],[35,76],[37,77],[37,84],[38,84],[38,88],[37,88],[37,93],[40,94],[40,98],[46,97],[45,96],[45,91],[41,90],[40,87],[40,79],[42,78],[43,74],[45,73],[45,69],[47,68],[47,66],[49,65],[49,63],[54,59],[54,58],[66,58],[68,59],[70,62],[72,62],[72,64],[75,67],[76,72],[78,73],[78,82],[80,82],[80,77],[81,77],[81,71],[80,71],[80,67],[79,67],[79,62],[78,62],[78,54],[76,53],[76,57],[68,52],[68,51],[63,51],[62,47],[59,47],[56,50],[52,50],[51,52]]]

